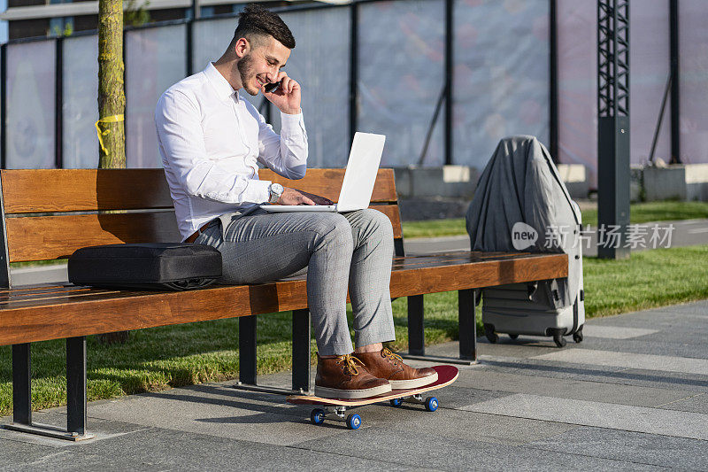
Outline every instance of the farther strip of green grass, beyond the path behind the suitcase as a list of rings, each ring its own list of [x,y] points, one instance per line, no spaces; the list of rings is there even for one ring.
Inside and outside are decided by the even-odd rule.
[[[633,223],[649,221],[692,220],[708,218],[708,202],[647,202],[631,205]],[[582,212],[583,225],[597,225],[597,210]],[[466,235],[464,218],[448,220],[404,221],[404,237],[436,237]]]

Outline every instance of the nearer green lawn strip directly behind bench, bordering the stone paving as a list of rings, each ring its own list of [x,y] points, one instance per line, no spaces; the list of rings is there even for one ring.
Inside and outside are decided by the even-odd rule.
[[[658,249],[629,260],[584,259],[588,317],[708,298],[708,245]],[[458,338],[457,293],[425,297],[426,343]],[[393,304],[396,350],[408,344],[406,299]],[[478,317],[480,313],[478,310]],[[481,333],[478,319],[478,333]],[[212,382],[238,376],[238,321],[220,320],[133,331],[127,344],[89,337],[89,399]],[[289,313],[258,316],[258,372],[290,367]],[[65,404],[65,344],[32,344],[35,408]],[[315,345],[312,343],[314,355]],[[10,346],[0,346],[0,415],[12,412]]]

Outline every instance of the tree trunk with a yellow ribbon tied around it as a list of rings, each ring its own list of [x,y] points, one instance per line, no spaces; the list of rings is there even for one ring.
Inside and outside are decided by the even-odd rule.
[[[98,168],[126,166],[123,90],[123,0],[98,2]],[[98,335],[102,344],[125,343],[128,331]]]

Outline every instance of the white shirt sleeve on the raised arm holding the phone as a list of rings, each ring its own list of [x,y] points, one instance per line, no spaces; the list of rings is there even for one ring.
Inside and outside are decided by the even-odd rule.
[[[283,177],[302,179],[307,170],[307,131],[302,111],[281,112],[281,134],[258,113],[258,161]]]

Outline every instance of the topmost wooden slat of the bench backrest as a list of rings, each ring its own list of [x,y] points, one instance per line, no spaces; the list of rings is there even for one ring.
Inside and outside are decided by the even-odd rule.
[[[336,201],[344,169],[310,169],[299,181],[267,169],[258,175]],[[396,201],[393,175],[392,169],[379,169],[372,202]],[[162,169],[12,169],[0,176],[7,214],[173,207]]]

